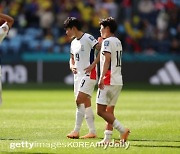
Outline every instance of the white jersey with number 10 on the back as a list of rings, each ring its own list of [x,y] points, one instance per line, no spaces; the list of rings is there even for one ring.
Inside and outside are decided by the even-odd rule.
[[[100,71],[103,70],[105,62],[104,52],[111,53],[111,62],[108,71],[104,77],[105,85],[123,85],[121,74],[121,57],[122,45],[121,41],[116,37],[109,37],[103,40],[100,55]]]

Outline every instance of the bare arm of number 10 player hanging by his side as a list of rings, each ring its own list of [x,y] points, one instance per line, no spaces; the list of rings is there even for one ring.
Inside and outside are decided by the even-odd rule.
[[[106,75],[109,65],[110,65],[111,53],[104,51],[104,56],[105,56],[105,62],[104,62],[103,69],[102,69],[103,71],[100,75],[99,82],[98,82],[98,87],[100,89],[104,89],[104,76]]]

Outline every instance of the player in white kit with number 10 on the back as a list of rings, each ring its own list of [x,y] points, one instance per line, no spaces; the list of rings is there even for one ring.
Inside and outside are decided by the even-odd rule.
[[[100,51],[100,78],[97,91],[97,114],[108,124],[104,132],[104,139],[100,143],[111,141],[113,127],[120,132],[121,141],[126,141],[130,133],[128,128],[115,118],[114,108],[121,92],[123,81],[121,74],[121,41],[114,33],[117,24],[112,17],[100,21],[100,33],[104,38]]]

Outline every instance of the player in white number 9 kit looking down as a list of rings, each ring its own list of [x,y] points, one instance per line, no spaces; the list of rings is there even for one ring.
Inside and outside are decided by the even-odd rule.
[[[64,21],[67,36],[72,38],[70,69],[74,74],[74,94],[76,98],[76,121],[74,130],[68,138],[79,138],[79,131],[85,117],[89,133],[81,138],[95,138],[94,114],[91,108],[91,95],[97,79],[96,67],[86,73],[95,60],[95,48],[100,50],[98,41],[90,34],[82,32],[81,22],[75,17],[68,17]]]

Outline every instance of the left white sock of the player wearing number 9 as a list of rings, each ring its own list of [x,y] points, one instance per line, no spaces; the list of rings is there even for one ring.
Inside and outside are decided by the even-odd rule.
[[[84,104],[79,104],[76,109],[76,122],[75,122],[75,128],[74,128],[75,132],[80,131],[80,128],[84,119],[84,115],[85,115],[85,106]]]

